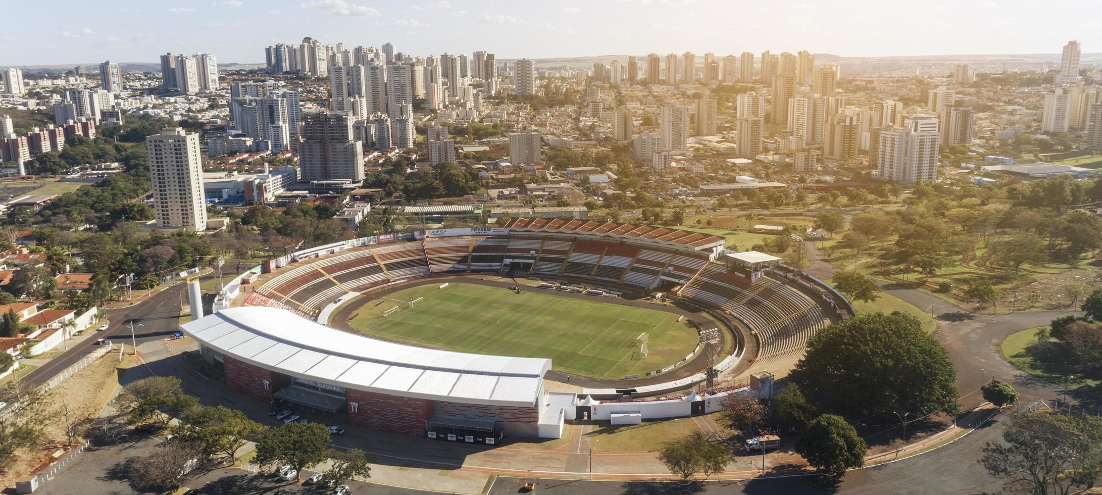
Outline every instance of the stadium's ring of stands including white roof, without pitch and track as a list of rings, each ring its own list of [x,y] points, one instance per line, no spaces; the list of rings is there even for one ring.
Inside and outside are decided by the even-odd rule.
[[[630,401],[689,389],[704,380],[701,367],[667,383],[613,380],[581,396],[554,394],[543,387],[550,359],[426,349],[325,326],[333,309],[354,294],[468,273],[571,281],[613,294],[659,291],[699,305],[724,321],[730,338],[756,344],[748,355],[747,347],[735,345],[715,366],[738,374],[728,376],[727,385],[747,378],[749,386]],[[244,392],[326,409],[352,423],[479,443],[499,441],[503,433],[557,438],[564,420],[606,418],[609,407],[598,398],[618,399],[615,419],[635,421],[711,412],[727,394],[766,394],[763,384],[802,356],[808,337],[853,314],[830,286],[775,257],[726,250],[722,237],[543,218],[305,249],[234,280],[216,298],[215,310],[182,329],[201,342],[205,357],[223,363],[227,381]],[[466,368],[471,363],[488,367]],[[483,387],[475,387],[477,394],[469,385],[475,381]]]

